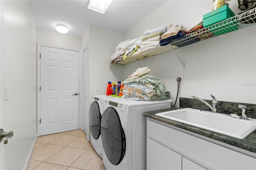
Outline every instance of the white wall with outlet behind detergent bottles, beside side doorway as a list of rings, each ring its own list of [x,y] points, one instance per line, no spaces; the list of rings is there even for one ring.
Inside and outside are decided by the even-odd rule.
[[[122,81],[122,65],[110,66],[110,57],[118,45],[124,39],[124,34],[105,28],[90,25],[82,36],[82,49],[88,43],[88,97],[87,113],[89,113],[92,95],[106,94],[108,81]],[[96,86],[101,87],[96,92]],[[88,120],[88,114],[87,114]],[[89,126],[89,125],[88,125]],[[87,126],[87,129],[89,127]]]

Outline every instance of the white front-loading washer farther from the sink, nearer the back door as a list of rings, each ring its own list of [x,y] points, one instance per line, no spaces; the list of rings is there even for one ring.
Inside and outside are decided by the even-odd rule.
[[[94,95],[89,110],[90,140],[92,147],[102,158],[102,141],[100,135],[100,121],[104,111],[104,100],[111,98],[106,95]]]

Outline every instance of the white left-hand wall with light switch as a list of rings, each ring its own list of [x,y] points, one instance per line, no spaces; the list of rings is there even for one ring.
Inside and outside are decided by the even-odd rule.
[[[9,100],[0,97],[1,128],[14,131],[3,146],[4,169],[20,170],[36,136],[36,25],[28,1],[4,1],[0,69],[1,94],[9,86]]]

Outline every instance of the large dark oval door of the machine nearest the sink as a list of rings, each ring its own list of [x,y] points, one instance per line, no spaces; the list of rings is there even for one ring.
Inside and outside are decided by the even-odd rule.
[[[124,158],[126,140],[117,111],[108,107],[101,119],[100,124],[102,145],[108,160],[118,165]]]

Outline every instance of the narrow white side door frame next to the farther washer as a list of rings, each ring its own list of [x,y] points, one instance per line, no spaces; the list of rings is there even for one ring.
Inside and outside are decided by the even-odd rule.
[[[86,71],[86,73],[87,73],[87,75],[86,75],[86,111],[84,111],[84,107],[82,107],[82,130],[84,130],[84,129],[86,129],[86,136],[90,136],[90,133],[89,133],[89,121],[88,121],[88,119],[89,119],[89,116],[88,116],[88,114],[87,114],[87,110],[88,110],[88,100],[89,100],[89,97],[88,97],[88,91],[89,91],[89,88],[88,88],[88,79],[89,79],[89,77],[88,77],[88,43],[86,44],[86,46],[84,47],[84,49],[83,49],[83,51],[82,51],[82,82],[84,82],[84,52],[87,50],[87,58],[86,58],[86,60],[87,60],[87,62],[86,62],[86,67],[87,67],[87,71]],[[84,86],[83,86],[83,84],[84,83],[82,83],[82,100],[81,100],[81,102],[83,102],[84,101]],[[84,127],[84,113],[86,113],[86,127]],[[87,137],[87,139],[88,139],[88,137]],[[89,140],[90,141],[90,140]]]

